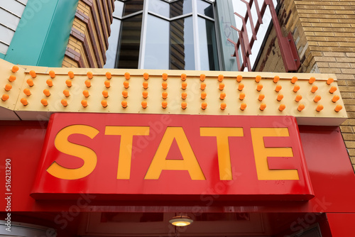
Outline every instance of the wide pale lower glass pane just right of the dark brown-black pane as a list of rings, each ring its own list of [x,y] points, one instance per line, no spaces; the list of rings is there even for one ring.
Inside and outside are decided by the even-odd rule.
[[[148,15],[145,69],[169,69],[169,21]]]

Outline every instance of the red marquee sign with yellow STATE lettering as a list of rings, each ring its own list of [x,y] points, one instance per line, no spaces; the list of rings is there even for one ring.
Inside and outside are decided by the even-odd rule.
[[[292,116],[53,114],[35,199],[308,200]]]

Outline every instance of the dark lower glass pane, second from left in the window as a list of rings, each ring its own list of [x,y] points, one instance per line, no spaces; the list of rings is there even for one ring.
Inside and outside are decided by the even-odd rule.
[[[138,68],[141,25],[142,14],[122,21],[121,38],[119,43],[119,68]]]

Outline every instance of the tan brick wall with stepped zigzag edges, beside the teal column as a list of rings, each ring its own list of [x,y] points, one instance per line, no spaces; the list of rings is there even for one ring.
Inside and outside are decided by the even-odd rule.
[[[101,68],[106,62],[114,0],[80,0],[62,67]]]

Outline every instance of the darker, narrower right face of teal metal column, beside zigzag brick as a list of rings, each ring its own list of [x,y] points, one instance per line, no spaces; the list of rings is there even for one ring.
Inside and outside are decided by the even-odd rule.
[[[43,45],[38,66],[62,67],[79,0],[60,0]]]

